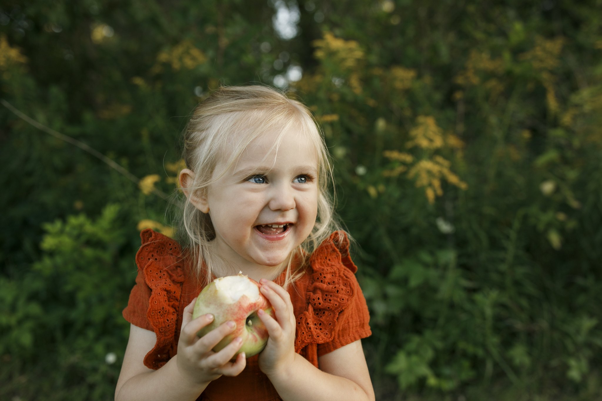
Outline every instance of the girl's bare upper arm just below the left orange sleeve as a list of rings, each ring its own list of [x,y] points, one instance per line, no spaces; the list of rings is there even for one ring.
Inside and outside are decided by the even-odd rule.
[[[140,373],[153,371],[144,366],[143,360],[146,354],[155,346],[156,342],[157,335],[154,332],[134,325],[129,326],[128,346],[123,356],[123,364],[119,373],[119,379],[117,380],[115,394],[119,393],[120,388],[129,379],[140,375]]]

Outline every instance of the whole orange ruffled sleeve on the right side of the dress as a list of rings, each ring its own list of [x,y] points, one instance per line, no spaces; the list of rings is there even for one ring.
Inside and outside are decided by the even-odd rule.
[[[295,351],[309,354],[302,352],[303,348],[317,344],[320,357],[370,336],[370,314],[355,278],[358,268],[349,256],[346,233],[332,233],[314,251],[310,263],[312,277],[306,292],[307,309],[297,316]]]

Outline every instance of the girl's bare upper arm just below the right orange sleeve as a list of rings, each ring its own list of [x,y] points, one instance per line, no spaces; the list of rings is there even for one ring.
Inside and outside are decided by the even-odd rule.
[[[355,382],[368,397],[374,399],[374,388],[364,357],[362,341],[357,340],[318,358],[320,370]]]

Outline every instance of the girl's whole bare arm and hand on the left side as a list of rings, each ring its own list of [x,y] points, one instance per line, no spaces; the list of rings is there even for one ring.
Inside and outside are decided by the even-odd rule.
[[[155,333],[131,325],[115,389],[116,401],[196,400],[211,381],[222,375],[236,376],[243,371],[246,366],[244,353],[239,354],[234,363],[230,362],[242,341],[235,339],[220,352],[211,351],[233,327],[224,323],[202,338],[196,337],[196,333],[212,319],[204,315],[191,320],[194,301],[196,298],[184,308],[178,354],[158,370],[143,364],[144,357],[157,341]]]

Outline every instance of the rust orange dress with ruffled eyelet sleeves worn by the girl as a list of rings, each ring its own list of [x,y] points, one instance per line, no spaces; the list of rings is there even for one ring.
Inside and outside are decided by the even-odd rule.
[[[144,357],[144,365],[160,369],[178,351],[182,311],[199,295],[202,280],[192,274],[186,251],[173,239],[150,228],[141,231],[140,237],[138,275],[123,317],[155,332],[157,343]],[[297,322],[295,352],[315,367],[319,368],[321,355],[371,334],[368,307],[355,278],[357,269],[349,257],[347,236],[333,233],[288,289]],[[197,401],[280,400],[259,370],[257,358],[247,358],[240,375],[211,382]]]

